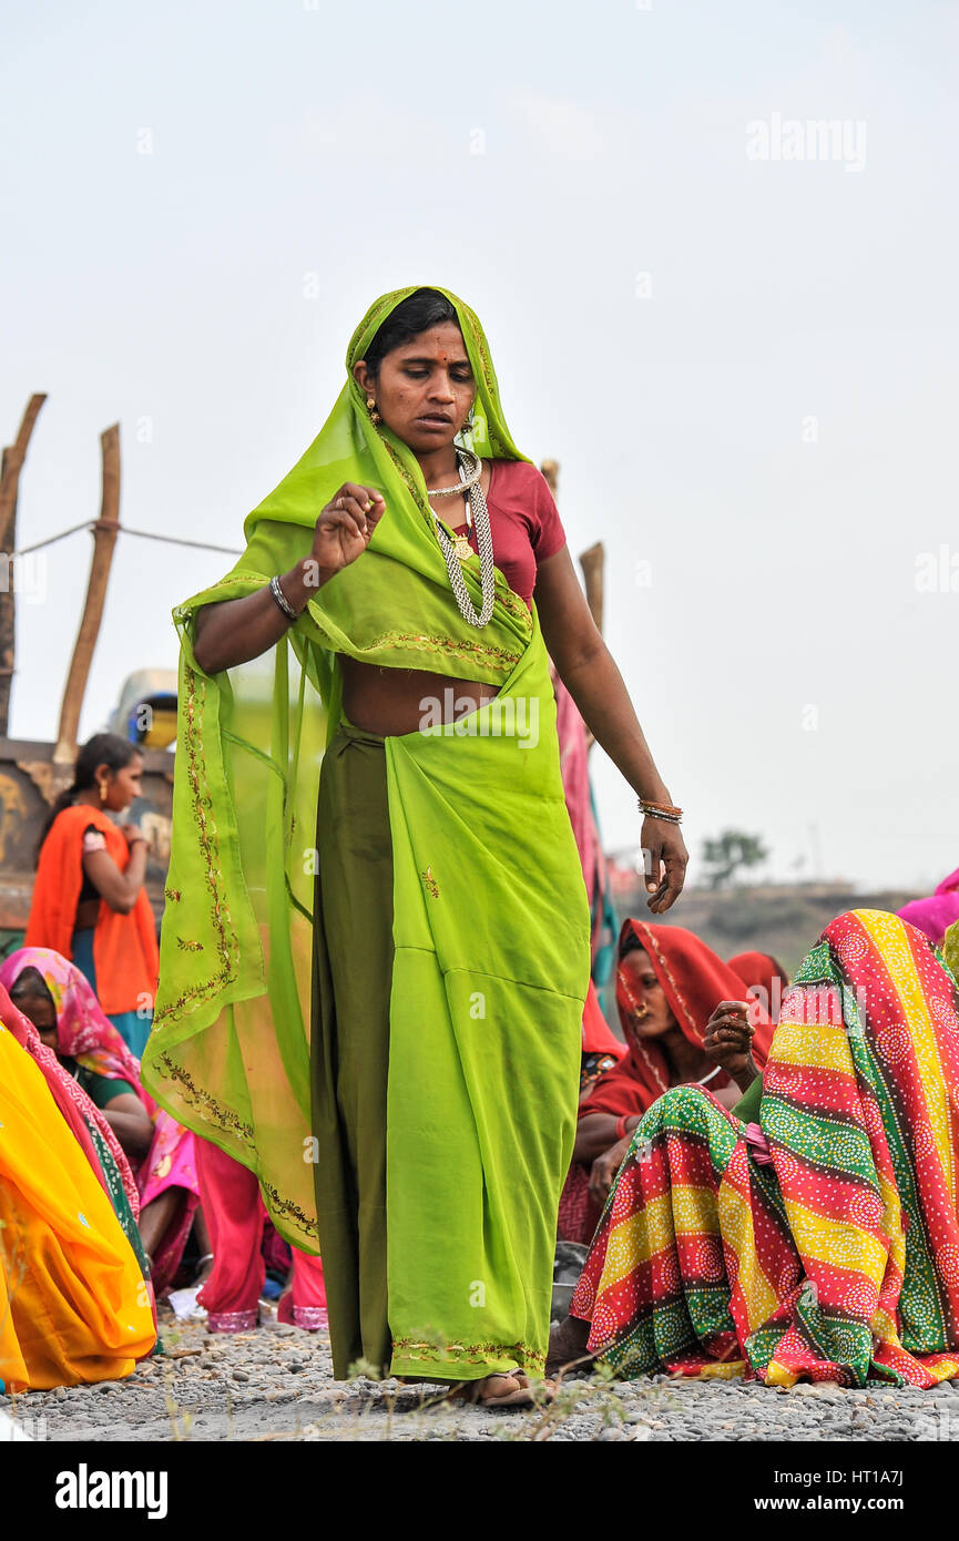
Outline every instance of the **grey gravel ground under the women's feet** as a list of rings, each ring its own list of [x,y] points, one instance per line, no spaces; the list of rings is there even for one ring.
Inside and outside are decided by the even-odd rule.
[[[931,1392],[655,1376],[564,1382],[550,1408],[439,1402],[430,1387],[333,1381],[325,1333],[207,1333],[162,1319],[165,1356],[126,1381],[0,1398],[48,1441],[931,1441],[959,1439],[959,1382]]]

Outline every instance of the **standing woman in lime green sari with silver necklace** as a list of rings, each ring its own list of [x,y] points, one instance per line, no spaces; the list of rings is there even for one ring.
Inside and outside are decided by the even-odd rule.
[[[537,564],[520,504],[507,530],[520,484],[552,502],[475,314],[446,290],[378,299],[242,558],[174,612],[173,852],[142,1066],[176,1119],[256,1171],[278,1230],[322,1253],[338,1376],[364,1362],[493,1405],[543,1373],[589,983],[547,647],[644,804],[654,914],[686,865],[564,544]],[[498,566],[517,529],[535,601]]]

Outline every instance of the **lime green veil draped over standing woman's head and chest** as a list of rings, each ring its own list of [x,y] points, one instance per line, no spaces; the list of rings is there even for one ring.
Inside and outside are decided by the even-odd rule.
[[[224,579],[233,596],[287,572],[308,552],[321,509],[344,482],[355,481],[382,493],[385,513],[362,561],[324,584],[322,598],[307,607],[291,633],[301,663],[316,669],[315,683],[330,706],[331,726],[339,709],[335,653],[405,669],[441,667],[446,656],[450,673],[500,684],[532,635],[526,604],[500,572],[496,607],[489,626],[476,630],[455,606],[450,610],[449,575],[419,462],[402,439],[384,424],[373,424],[365,391],[353,378],[353,365],[365,356],[379,327],[419,287],[395,290],[370,305],[350,339],[347,381],[333,411],[279,487],[248,515],[244,525],[247,550]],[[480,456],[527,459],[506,427],[483,327],[469,305],[449,290],[436,293],[444,294],[456,311],[476,382],[473,428],[464,442]],[[464,564],[464,576],[478,607],[476,555]],[[194,610],[210,596],[194,596],[188,609]],[[219,586],[217,598],[222,596]]]

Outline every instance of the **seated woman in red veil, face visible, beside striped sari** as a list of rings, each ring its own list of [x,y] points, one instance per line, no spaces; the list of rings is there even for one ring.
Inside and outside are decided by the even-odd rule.
[[[669,1086],[702,1082],[726,1106],[742,1091],[705,1049],[718,1002],[748,1020],[762,1065],[772,1028],[743,980],[683,926],[626,920],[620,932],[617,1008],[628,1045],[620,1063],[580,1102],[574,1157],[560,1200],[560,1241],[587,1242],[641,1114]]]

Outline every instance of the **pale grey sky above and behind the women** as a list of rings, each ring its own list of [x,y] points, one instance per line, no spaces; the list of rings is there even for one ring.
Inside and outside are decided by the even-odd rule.
[[[957,60],[931,0],[8,6],[3,442],[49,396],[19,542],[96,513],[119,421],[123,521],[241,544],[368,304],[441,284],[561,462],[572,550],[606,542],[694,854],[739,826],[777,877],[931,886],[959,865]],[[19,604],[19,737],[56,730],[89,544]],[[228,566],[120,539],[83,735]]]

